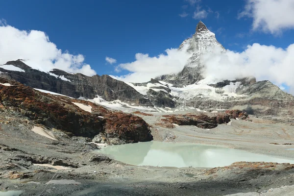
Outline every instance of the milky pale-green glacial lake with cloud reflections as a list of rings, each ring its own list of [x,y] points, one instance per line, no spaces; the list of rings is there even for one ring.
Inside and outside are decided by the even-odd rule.
[[[214,168],[228,166],[238,161],[294,164],[294,160],[291,159],[191,143],[141,142],[107,146],[97,152],[135,166]]]

